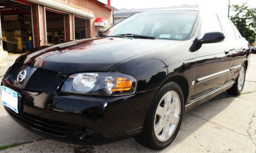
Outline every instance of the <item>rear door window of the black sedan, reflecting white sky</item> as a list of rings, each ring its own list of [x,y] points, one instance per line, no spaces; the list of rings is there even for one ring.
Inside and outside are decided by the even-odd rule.
[[[223,28],[225,31],[225,37],[227,39],[227,41],[236,41],[236,34],[234,34],[234,30],[233,30],[233,26],[231,24],[231,22],[229,21],[229,19],[227,19],[224,16],[219,16],[222,24],[223,24]]]

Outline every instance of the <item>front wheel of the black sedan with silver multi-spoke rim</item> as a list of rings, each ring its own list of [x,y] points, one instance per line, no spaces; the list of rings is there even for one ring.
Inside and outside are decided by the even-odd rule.
[[[171,99],[170,103],[167,103],[168,99]],[[165,84],[155,95],[142,132],[135,137],[135,140],[155,150],[167,147],[180,130],[183,114],[184,97],[181,87],[175,82]],[[160,131],[159,128],[162,130]]]

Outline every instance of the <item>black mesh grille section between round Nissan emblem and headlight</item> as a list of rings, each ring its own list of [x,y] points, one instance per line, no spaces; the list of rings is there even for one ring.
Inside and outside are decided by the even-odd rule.
[[[26,85],[26,89],[33,91],[43,91],[48,87],[56,75],[56,72],[38,68],[32,74],[28,84]]]

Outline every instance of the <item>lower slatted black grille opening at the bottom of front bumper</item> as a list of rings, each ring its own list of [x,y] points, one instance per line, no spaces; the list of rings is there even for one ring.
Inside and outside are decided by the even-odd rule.
[[[46,132],[48,134],[59,136],[59,137],[65,137],[67,135],[68,130],[68,124],[58,121],[49,121],[46,119],[42,119],[39,117],[36,117],[34,115],[30,115],[27,113],[15,113],[9,108],[6,108],[9,114],[19,121],[22,121],[28,126],[33,127],[33,129],[36,129],[38,131]]]

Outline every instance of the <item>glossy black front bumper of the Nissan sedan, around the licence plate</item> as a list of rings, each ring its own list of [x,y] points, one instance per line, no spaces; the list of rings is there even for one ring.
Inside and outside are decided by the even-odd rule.
[[[84,96],[58,92],[57,75],[44,91],[20,89],[6,75],[2,85],[18,92],[19,113],[10,116],[31,131],[52,139],[79,144],[104,144],[134,136],[142,126],[157,91],[127,96]]]

